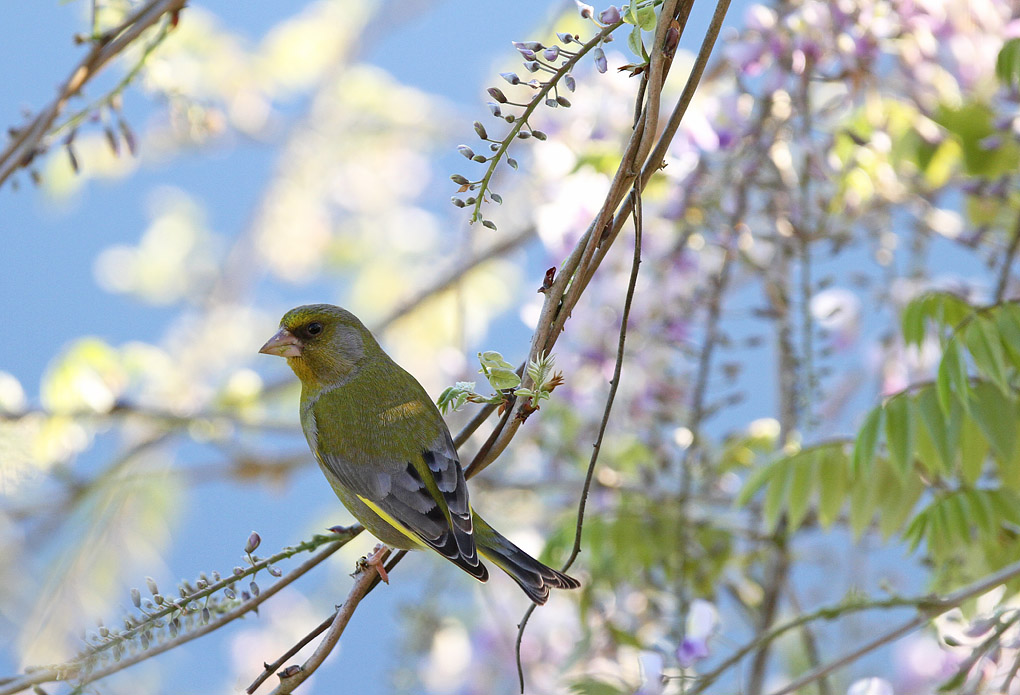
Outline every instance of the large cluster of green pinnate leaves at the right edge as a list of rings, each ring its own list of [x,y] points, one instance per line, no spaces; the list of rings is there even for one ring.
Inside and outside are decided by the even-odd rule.
[[[757,468],[737,503],[763,493],[766,526],[796,531],[814,512],[924,544],[936,567],[993,570],[1020,556],[1020,303],[974,307],[948,293],[904,310],[903,336],[944,345],[937,379],[894,394],[856,438],[817,444]],[[920,507],[918,507],[920,505]],[[936,579],[946,579],[936,572]]]

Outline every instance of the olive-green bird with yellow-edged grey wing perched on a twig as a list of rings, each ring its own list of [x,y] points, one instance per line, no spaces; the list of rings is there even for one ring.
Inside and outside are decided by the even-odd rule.
[[[431,548],[475,579],[478,555],[538,604],[575,589],[471,508],[450,430],[417,380],[350,311],[310,304],[288,311],[259,352],[287,357],[301,380],[301,427],[340,501],[394,548]]]

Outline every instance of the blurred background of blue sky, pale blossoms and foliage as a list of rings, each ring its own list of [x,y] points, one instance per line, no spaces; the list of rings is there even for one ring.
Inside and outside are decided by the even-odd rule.
[[[8,12],[0,120],[16,127],[53,98],[97,7],[115,26],[133,4]],[[695,4],[664,108],[714,9]],[[882,395],[930,379],[937,341],[899,335],[911,298],[1009,296],[1016,100],[993,68],[1012,12],[729,8],[647,192],[628,359],[574,565],[585,588],[531,619],[534,692],[680,692],[696,663],[755,634],[775,547],[760,505],[733,504],[748,474],[853,435]],[[287,309],[350,308],[434,396],[478,380],[479,350],[526,356],[536,290],[592,221],[626,142],[630,28],[605,45],[606,73],[591,59],[575,69],[569,108],[538,111],[548,140],[513,145],[519,170],[498,169],[503,204],[486,210],[497,230],[450,205],[449,176],[482,168],[456,150],[482,151],[472,121],[502,137],[486,90],[509,95],[499,75],[525,76],[511,42],[597,29],[574,2],[208,0],[72,100],[50,151],[0,188],[0,676],[69,658],[84,630],[133,611],[147,577],[173,595],[230,574],[252,530],[269,555],[351,523],[307,452],[296,380],[256,354]],[[572,543],[631,244],[625,232],[567,325],[565,386],[472,481],[493,525],[551,563]],[[454,431],[474,407],[449,416]],[[813,518],[784,546],[796,561],[777,614],[937,583],[924,546],[851,526]],[[90,688],[242,691],[343,600],[372,545],[363,535],[258,615]],[[413,554],[302,692],[516,692],[527,605],[505,577],[478,585]],[[809,637],[836,653],[873,628]],[[770,686],[811,661],[797,640],[776,653]],[[927,692],[962,658],[919,634],[833,687],[879,676]],[[727,678],[720,692],[744,692],[745,675]]]

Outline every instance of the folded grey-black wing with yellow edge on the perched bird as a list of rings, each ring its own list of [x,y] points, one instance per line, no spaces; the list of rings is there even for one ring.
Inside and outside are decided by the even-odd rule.
[[[378,436],[386,437],[386,431]],[[357,461],[324,453],[321,441],[317,448],[322,464],[337,480],[389,524],[473,577],[488,578],[472,536],[464,473],[445,425],[434,442],[406,458],[388,454]]]

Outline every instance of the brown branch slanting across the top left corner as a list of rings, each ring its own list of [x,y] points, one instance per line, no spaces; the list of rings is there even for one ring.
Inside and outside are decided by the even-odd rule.
[[[164,14],[181,10],[187,0],[151,0],[136,10],[117,28],[93,41],[92,49],[71,70],[60,85],[57,96],[28,125],[17,129],[11,141],[0,152],[0,186],[10,176],[27,166],[43,149],[43,141],[57,116],[63,112],[71,97],[82,91],[114,57],[126,49],[145,30],[155,24]]]

